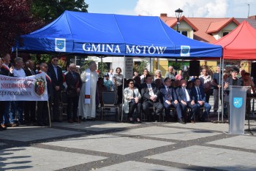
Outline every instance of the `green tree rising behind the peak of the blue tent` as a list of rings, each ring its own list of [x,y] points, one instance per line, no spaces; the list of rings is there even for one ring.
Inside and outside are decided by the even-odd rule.
[[[33,0],[31,12],[35,18],[50,23],[65,10],[87,12],[88,7],[84,0]]]

